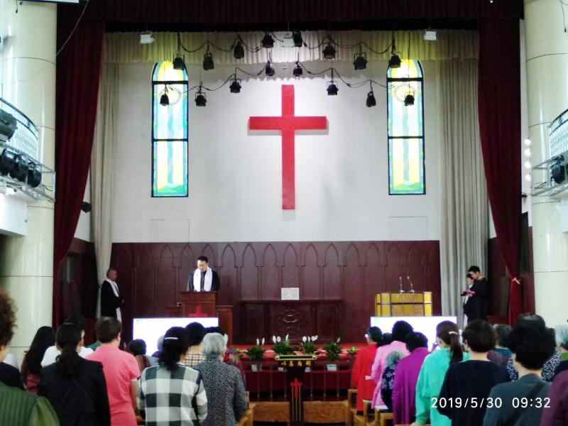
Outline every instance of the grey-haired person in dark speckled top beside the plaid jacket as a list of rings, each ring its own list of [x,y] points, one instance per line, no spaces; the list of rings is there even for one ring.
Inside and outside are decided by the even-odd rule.
[[[195,369],[202,374],[207,392],[207,425],[236,426],[247,408],[241,373],[223,362],[226,340],[221,334],[205,334],[202,348],[205,361]]]

